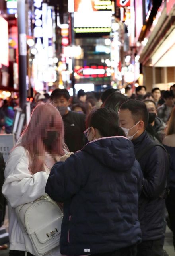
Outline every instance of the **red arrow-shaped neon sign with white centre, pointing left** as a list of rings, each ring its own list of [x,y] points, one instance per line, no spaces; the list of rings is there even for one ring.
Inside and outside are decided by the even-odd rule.
[[[75,70],[75,72],[84,78],[90,78],[90,77],[107,77],[108,72],[107,72],[108,67],[107,66],[84,66],[79,68],[78,70]]]

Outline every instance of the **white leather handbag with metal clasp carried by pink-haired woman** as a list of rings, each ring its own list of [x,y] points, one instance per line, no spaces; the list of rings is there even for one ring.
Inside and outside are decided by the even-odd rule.
[[[19,205],[15,211],[22,231],[31,240],[35,256],[47,254],[59,245],[63,213],[49,196]]]

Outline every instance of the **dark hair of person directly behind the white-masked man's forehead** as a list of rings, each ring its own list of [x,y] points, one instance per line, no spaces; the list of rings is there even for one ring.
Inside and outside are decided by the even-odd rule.
[[[109,107],[118,113],[121,104],[126,102],[128,98],[119,92],[115,92],[105,100],[102,107]]]

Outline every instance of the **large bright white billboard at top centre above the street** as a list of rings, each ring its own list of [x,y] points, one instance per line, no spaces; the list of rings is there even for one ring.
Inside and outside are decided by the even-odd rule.
[[[75,33],[111,31],[111,0],[74,0],[74,10]]]

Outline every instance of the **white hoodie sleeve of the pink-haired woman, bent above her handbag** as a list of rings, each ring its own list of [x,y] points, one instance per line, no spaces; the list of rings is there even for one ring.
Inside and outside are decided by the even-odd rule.
[[[46,172],[32,175],[28,168],[25,149],[16,147],[9,156],[5,168],[2,193],[12,207],[30,203],[45,194]]]

